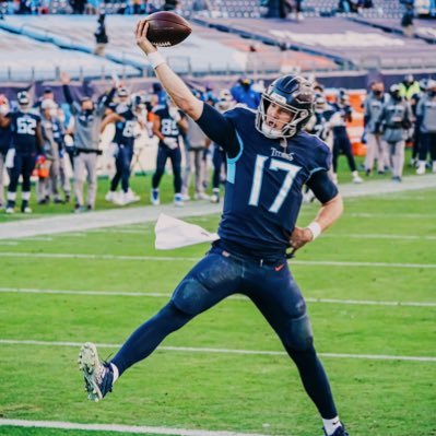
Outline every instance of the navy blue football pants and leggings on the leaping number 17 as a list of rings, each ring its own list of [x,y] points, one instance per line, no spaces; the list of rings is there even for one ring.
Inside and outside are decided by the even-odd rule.
[[[122,374],[148,357],[169,333],[236,293],[250,298],[274,329],[321,416],[337,416],[327,375],[313,345],[306,304],[284,258],[261,266],[212,248],[180,282],[169,303],[133,332],[111,362]]]

